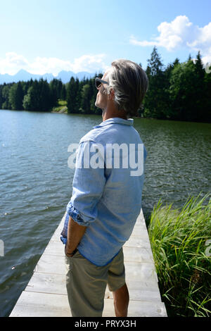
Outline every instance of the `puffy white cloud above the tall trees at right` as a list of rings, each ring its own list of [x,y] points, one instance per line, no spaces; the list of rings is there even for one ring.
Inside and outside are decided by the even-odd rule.
[[[172,22],[162,22],[158,25],[158,37],[152,37],[152,41],[139,41],[132,35],[130,44],[136,46],[160,46],[167,51],[177,51],[186,47],[191,51],[200,51],[203,63],[211,61],[211,22],[204,27],[193,25],[186,15],[179,15]]]

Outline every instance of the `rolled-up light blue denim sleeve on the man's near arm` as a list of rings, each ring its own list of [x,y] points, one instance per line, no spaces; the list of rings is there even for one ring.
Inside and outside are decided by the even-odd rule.
[[[97,204],[103,195],[106,184],[104,175],[103,154],[98,153],[101,158],[101,168],[93,168],[90,159],[95,154],[90,151],[94,142],[86,141],[79,144],[76,157],[75,174],[72,182],[72,197],[67,206],[67,213],[79,225],[89,226],[97,217]],[[89,159],[87,156],[89,155]],[[89,161],[89,168],[84,167],[84,160]],[[102,167],[103,165],[103,167]]]

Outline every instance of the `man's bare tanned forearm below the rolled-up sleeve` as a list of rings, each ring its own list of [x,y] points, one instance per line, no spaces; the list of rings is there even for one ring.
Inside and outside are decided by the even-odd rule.
[[[65,254],[67,256],[71,256],[72,252],[75,251],[86,230],[86,226],[79,225],[72,219],[72,217],[69,218],[68,241],[65,245]]]

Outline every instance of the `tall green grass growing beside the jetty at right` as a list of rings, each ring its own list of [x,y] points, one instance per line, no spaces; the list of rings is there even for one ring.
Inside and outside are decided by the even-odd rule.
[[[200,195],[181,209],[159,200],[151,214],[148,234],[168,316],[211,316],[211,194]]]

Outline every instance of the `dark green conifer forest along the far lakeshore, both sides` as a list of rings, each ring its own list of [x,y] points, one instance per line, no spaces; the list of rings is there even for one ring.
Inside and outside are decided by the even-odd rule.
[[[165,67],[154,46],[147,63],[149,87],[139,117],[211,122],[211,70],[203,68],[200,51],[195,61],[189,55],[187,61],[180,63],[176,58]],[[58,100],[64,100],[68,113],[101,115],[95,106],[98,91],[94,81],[102,75],[81,81],[71,77],[66,84],[57,79],[48,83],[42,78],[4,83],[0,85],[0,109],[52,111]]]

